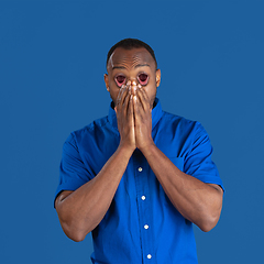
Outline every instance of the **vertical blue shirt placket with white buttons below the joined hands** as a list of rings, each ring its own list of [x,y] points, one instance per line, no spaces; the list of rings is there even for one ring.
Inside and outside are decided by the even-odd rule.
[[[141,234],[142,262],[155,263],[152,248],[152,211],[151,196],[147,184],[148,164],[144,156],[138,152],[134,158],[134,176],[136,188],[136,205]]]

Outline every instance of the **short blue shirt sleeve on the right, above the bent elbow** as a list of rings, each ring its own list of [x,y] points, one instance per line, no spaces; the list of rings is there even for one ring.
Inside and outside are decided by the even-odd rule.
[[[217,184],[223,189],[216,164],[211,161],[212,146],[202,125],[197,122],[190,151],[185,158],[184,170],[207,184]],[[224,189],[223,189],[224,190]]]

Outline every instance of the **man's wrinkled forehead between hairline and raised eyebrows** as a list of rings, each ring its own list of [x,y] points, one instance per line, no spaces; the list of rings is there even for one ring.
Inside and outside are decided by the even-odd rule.
[[[148,64],[151,67],[155,67],[155,61],[152,55],[144,48],[125,50],[118,47],[112,53],[108,67],[113,68],[121,67],[135,67],[139,64]]]

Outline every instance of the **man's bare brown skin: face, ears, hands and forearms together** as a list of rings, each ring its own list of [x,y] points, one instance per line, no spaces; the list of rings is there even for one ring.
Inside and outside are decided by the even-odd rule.
[[[144,87],[136,80],[141,72],[150,76]],[[121,88],[114,81],[118,74],[125,76],[125,85]],[[202,231],[210,231],[221,213],[221,187],[183,173],[153,142],[151,113],[161,70],[156,70],[151,54],[143,47],[117,48],[109,59],[105,81],[116,106],[120,144],[94,179],[57,197],[55,207],[65,233],[74,241],[81,241],[100,223],[136,147],[147,160],[174,207]]]

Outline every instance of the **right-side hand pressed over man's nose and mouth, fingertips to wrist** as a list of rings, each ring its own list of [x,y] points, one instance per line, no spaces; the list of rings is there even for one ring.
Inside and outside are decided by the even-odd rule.
[[[154,144],[152,139],[152,108],[145,90],[139,85],[134,90],[133,110],[135,123],[135,145],[142,152]]]

